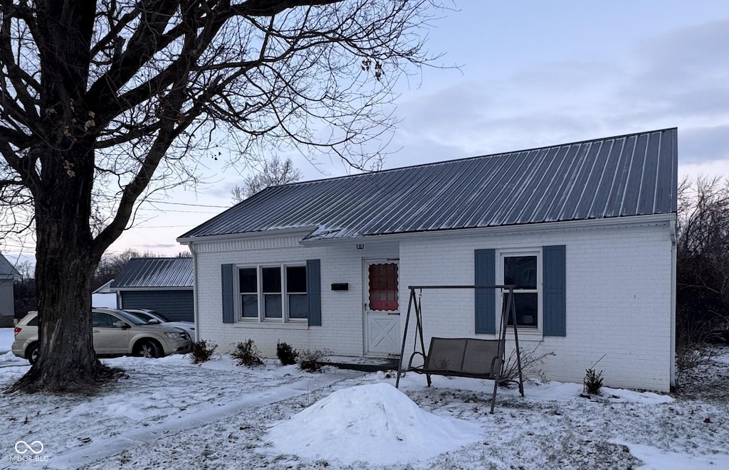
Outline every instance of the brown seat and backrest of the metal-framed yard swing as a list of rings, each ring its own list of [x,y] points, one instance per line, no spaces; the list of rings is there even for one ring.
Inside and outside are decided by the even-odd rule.
[[[431,338],[422,367],[417,373],[459,377],[496,378],[501,369],[502,341],[476,338]]]

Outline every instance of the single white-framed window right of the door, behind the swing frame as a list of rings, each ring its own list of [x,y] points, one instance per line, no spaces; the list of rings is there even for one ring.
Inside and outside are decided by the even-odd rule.
[[[499,258],[503,284],[515,285],[514,303],[517,326],[538,329],[542,322],[541,250],[501,252]],[[514,324],[511,316],[509,316],[507,324]]]

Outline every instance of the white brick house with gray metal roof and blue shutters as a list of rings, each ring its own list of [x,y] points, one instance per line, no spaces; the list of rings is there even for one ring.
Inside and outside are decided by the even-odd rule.
[[[676,210],[668,129],[267,188],[178,241],[198,335],[222,351],[397,356],[409,285],[513,282],[548,378],[581,383],[602,358],[606,385],[668,391]],[[426,344],[494,338],[500,302],[424,290]]]

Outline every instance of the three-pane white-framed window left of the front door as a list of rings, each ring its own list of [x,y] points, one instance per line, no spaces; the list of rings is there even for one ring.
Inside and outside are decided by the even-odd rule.
[[[308,317],[306,266],[238,268],[239,316],[259,322],[296,322]]]

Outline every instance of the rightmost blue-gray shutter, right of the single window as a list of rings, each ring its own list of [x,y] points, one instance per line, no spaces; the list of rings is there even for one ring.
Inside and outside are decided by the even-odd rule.
[[[564,244],[542,247],[544,335],[566,336],[566,250]]]

